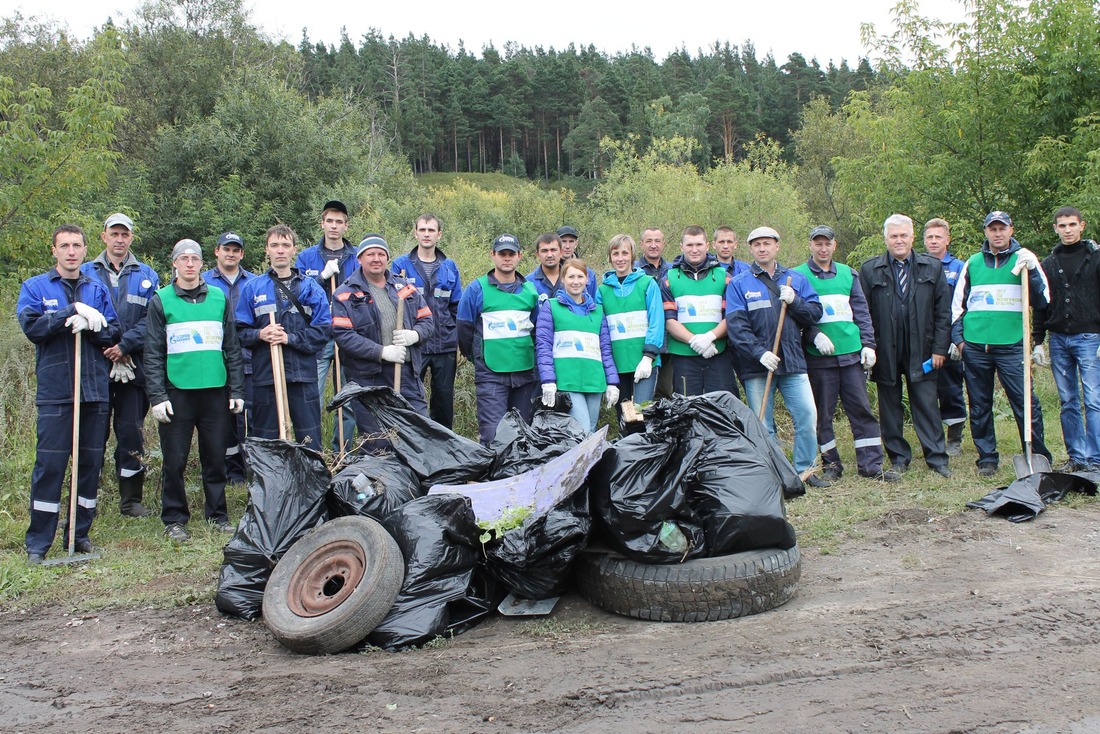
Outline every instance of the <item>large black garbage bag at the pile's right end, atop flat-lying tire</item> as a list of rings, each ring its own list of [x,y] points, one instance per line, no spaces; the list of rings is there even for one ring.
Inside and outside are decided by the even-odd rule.
[[[697,438],[704,449],[688,476],[688,497],[706,534],[707,556],[794,547],[782,493],[802,486],[776,442],[748,406],[727,392],[673,396],[667,427]],[[686,418],[686,420],[680,420]],[[656,430],[662,428],[657,421]]]

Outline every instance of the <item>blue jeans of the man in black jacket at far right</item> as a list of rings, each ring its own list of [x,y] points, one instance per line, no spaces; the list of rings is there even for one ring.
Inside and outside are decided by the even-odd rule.
[[[1100,333],[1048,333],[1050,370],[1062,402],[1062,438],[1069,458],[1079,464],[1100,464]],[[1081,421],[1080,380],[1085,394]]]

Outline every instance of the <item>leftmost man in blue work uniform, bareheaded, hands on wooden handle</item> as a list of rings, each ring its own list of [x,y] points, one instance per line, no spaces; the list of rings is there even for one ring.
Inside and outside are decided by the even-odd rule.
[[[80,271],[88,248],[84,231],[63,224],[54,231],[56,266],[23,282],[15,313],[34,343],[38,439],[31,474],[31,523],[26,559],[41,563],[57,532],[62,482],[73,452],[73,383],[76,339],[80,346],[80,424],[77,475],[76,550],[92,551],[88,533],[96,517],[99,472],[103,468],[111,362],[102,350],[118,343],[111,296],[98,280]],[[74,335],[77,335],[74,337]],[[67,545],[66,538],[66,545]]]

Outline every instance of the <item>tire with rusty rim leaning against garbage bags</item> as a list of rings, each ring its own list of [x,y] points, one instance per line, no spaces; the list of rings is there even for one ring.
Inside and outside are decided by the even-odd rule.
[[[404,579],[400,548],[382,525],[341,517],[302,536],[275,566],[264,623],[296,653],[339,653],[382,622]]]

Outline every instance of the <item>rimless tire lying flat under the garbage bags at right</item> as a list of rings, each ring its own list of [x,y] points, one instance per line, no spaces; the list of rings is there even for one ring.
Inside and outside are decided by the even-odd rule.
[[[583,554],[578,585],[590,602],[651,622],[713,622],[759,614],[790,601],[802,576],[799,547],[769,548],[683,563],[639,563]]]

